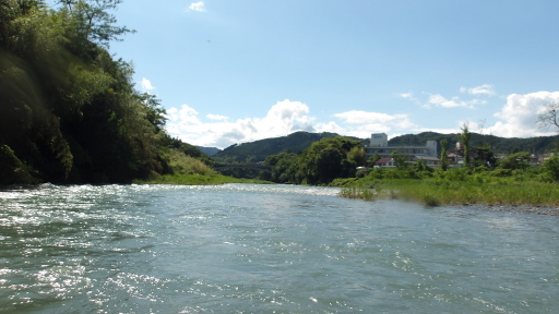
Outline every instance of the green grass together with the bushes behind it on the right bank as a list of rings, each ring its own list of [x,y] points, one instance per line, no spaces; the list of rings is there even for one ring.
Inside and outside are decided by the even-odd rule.
[[[365,178],[334,180],[344,186],[342,196],[352,198],[400,198],[437,205],[530,205],[559,206],[559,156],[542,166],[528,165],[526,152],[488,165],[444,171],[416,164],[405,168],[377,168]],[[479,160],[474,160],[479,162]]]

